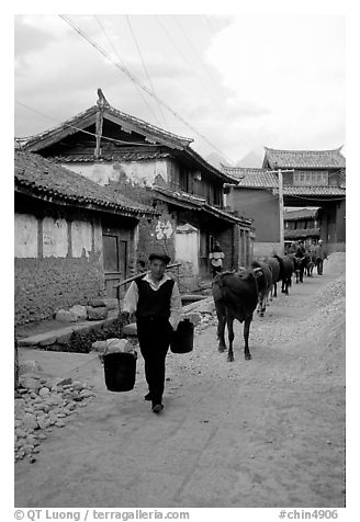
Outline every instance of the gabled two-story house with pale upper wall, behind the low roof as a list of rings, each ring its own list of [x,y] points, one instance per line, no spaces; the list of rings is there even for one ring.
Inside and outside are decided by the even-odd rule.
[[[112,107],[101,90],[98,94],[97,104],[87,111],[20,139],[22,148],[109,185],[114,194],[122,194],[125,188],[128,193],[133,183],[140,201],[161,212],[156,223],[140,223],[143,262],[157,246],[183,263],[184,280],[210,275],[209,252],[213,242],[220,241],[225,268],[246,264],[252,219],[225,209],[223,203],[224,183],[234,179],[195,152],[191,138],[125,114]],[[149,226],[155,228],[153,235]]]

